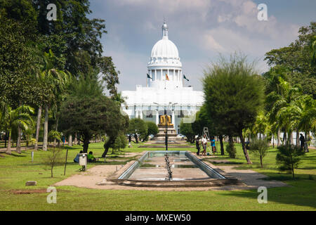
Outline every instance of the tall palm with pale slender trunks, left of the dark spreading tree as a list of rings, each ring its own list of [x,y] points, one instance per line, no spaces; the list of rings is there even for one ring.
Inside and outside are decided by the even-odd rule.
[[[48,53],[44,53],[44,66],[41,72],[37,74],[37,79],[47,90],[47,99],[45,101],[45,121],[44,121],[44,139],[43,139],[43,150],[47,150],[48,141],[48,110],[53,100],[60,94],[64,89],[69,79],[69,73],[62,70],[58,70],[53,65],[53,52],[51,50]],[[42,105],[39,106],[39,113],[37,115],[37,134],[35,150],[38,148],[39,141],[39,127],[41,122],[41,110]]]

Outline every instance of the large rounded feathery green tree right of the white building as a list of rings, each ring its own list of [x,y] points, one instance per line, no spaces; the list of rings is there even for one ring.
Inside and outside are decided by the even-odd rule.
[[[251,160],[244,143],[243,129],[251,127],[263,106],[263,82],[254,64],[237,54],[220,58],[204,72],[204,96],[209,117],[225,129],[228,136],[238,134],[247,163]]]

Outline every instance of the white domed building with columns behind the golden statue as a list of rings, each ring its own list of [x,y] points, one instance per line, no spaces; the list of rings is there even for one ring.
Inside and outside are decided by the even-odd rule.
[[[147,77],[146,86],[137,85],[136,91],[121,92],[126,101],[122,110],[130,119],[140,117],[156,124],[159,124],[159,116],[166,113],[179,133],[183,118],[185,122],[195,120],[204,96],[192,86],[183,86],[182,63],[178,48],[168,38],[166,22],[162,25],[162,39],[152,47],[147,69],[150,78]]]

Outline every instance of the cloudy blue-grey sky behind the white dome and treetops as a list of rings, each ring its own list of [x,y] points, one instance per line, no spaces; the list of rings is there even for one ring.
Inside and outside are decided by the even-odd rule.
[[[268,21],[259,21],[258,4],[268,7]],[[185,85],[202,90],[203,69],[221,53],[242,51],[258,60],[260,72],[271,49],[287,46],[298,28],[315,21],[315,0],[91,0],[91,18],[105,20],[104,56],[120,70],[119,91],[146,84],[152,46],[162,39],[164,18],[169,39],[178,47]]]

